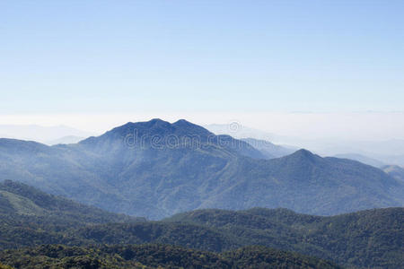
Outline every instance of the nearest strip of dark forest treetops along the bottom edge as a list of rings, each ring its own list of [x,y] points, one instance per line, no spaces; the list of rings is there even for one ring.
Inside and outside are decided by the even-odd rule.
[[[0,260],[14,268],[340,268],[318,258],[267,247],[217,254],[167,245],[42,245],[1,252]]]

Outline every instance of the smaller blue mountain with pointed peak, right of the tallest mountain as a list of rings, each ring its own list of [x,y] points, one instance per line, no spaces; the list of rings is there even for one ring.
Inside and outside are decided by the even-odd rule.
[[[300,150],[279,159],[236,163],[220,195],[201,207],[285,207],[329,215],[402,205],[395,193],[402,194],[400,182],[357,161],[321,158]]]

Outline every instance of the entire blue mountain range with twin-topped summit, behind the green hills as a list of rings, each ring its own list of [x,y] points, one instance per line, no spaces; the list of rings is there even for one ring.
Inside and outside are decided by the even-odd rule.
[[[305,150],[264,159],[186,120],[127,123],[68,145],[0,139],[0,179],[150,219],[201,208],[330,215],[404,204],[401,181],[357,161]]]

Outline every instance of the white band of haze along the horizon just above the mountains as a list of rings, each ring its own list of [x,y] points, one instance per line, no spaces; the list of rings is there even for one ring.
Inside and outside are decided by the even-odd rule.
[[[127,122],[152,118],[174,122],[184,118],[195,124],[232,124],[303,139],[383,141],[404,139],[404,113],[125,113],[0,115],[0,125],[70,126],[102,134]]]

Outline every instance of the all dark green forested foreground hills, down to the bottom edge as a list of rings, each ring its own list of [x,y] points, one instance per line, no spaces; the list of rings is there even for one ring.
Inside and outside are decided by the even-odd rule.
[[[331,217],[252,208],[198,210],[145,221],[4,181],[0,182],[0,263],[15,268],[400,268],[403,217],[403,208]]]

